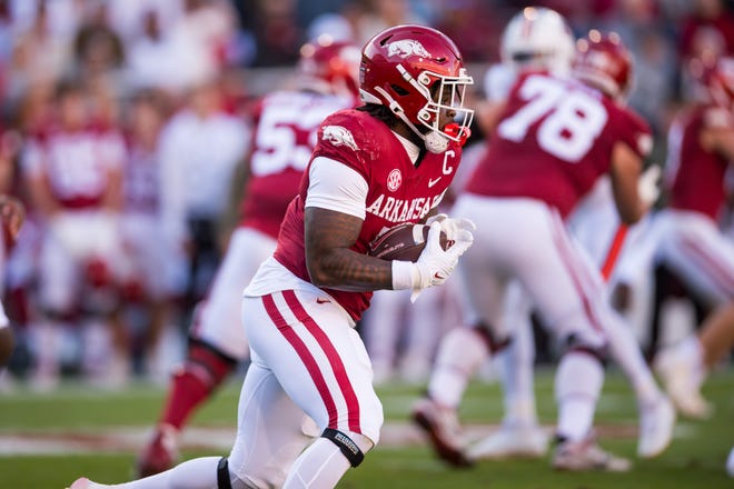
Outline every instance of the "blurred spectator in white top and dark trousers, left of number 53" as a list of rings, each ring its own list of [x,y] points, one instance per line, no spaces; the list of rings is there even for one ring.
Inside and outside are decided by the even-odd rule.
[[[218,81],[197,86],[160,141],[161,206],[167,239],[188,252],[187,303],[199,300],[219,263],[217,221],[229,181],[244,158],[250,129],[222,107]]]

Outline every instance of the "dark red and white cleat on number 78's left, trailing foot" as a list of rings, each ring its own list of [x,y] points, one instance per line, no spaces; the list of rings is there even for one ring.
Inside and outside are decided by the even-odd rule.
[[[428,435],[438,458],[454,467],[474,465],[464,452],[460,428],[454,409],[442,407],[424,398],[413,409],[413,420]]]

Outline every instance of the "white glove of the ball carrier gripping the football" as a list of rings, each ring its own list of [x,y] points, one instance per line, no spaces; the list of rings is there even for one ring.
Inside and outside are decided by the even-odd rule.
[[[440,286],[448,279],[458,263],[458,259],[474,242],[472,230],[476,229],[472,221],[466,220],[465,228],[457,227],[454,230],[454,244],[446,251],[440,247],[442,223],[434,221],[428,231],[426,248],[415,262],[417,280],[413,282],[413,295],[410,301],[415,302],[423,289]],[[470,224],[470,226],[469,226]],[[470,228],[467,229],[466,227]],[[450,239],[450,238],[449,238]]]

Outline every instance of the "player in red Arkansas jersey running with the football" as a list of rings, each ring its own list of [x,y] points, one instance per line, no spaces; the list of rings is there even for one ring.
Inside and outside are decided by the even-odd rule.
[[[386,228],[426,220],[440,202],[472,121],[463,107],[472,82],[454,42],[434,29],[398,26],[367,42],[366,104],[320,124],[276,251],[245,290],[252,362],[230,456],[116,487],[329,488],[361,462],[378,442],[383,409],[356,321],[374,290],[445,282],[473,242],[473,224],[434,220],[416,262],[369,257],[368,243]],[[442,230],[454,241],[447,250]],[[305,451],[304,412],[321,430]],[[106,486],[82,478],[71,487]]]

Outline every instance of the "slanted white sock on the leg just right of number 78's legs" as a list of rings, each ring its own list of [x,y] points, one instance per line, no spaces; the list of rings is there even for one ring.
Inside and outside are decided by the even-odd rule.
[[[642,406],[654,403],[663,393],[643,358],[639,343],[632,329],[616,313],[611,317],[612,321],[607,323],[605,331],[612,356],[632,383],[637,402]]]

